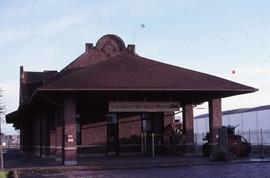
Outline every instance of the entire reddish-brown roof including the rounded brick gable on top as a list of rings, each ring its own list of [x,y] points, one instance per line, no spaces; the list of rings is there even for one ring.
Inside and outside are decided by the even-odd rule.
[[[161,63],[135,53],[116,35],[105,35],[60,72],[26,72],[21,67],[20,106],[30,107],[39,92],[173,91],[182,102],[202,102],[254,92],[257,89],[213,75]],[[145,92],[145,93],[147,93]],[[154,93],[154,92],[153,92]],[[175,95],[174,95],[175,96]],[[12,120],[17,112],[7,115]],[[13,121],[12,121],[13,122]]]

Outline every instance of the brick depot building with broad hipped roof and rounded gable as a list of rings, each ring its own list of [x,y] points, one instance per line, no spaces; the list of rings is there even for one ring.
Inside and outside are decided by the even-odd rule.
[[[193,105],[209,102],[212,149],[221,126],[221,98],[256,91],[208,74],[146,59],[115,35],[57,71],[20,68],[20,103],[7,115],[21,149],[65,165],[77,154],[139,153],[142,132],[162,134],[182,108],[186,151],[194,143]]]

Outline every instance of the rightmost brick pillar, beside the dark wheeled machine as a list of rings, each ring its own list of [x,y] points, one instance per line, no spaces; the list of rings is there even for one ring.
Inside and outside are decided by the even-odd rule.
[[[209,149],[213,156],[218,144],[218,129],[222,127],[221,99],[212,99],[209,104]]]

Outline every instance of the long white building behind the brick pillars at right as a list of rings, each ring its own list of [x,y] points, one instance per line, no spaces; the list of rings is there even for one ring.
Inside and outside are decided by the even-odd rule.
[[[222,112],[223,126],[237,126],[236,133],[244,136],[252,144],[270,144],[270,105],[242,108]],[[194,118],[194,132],[200,143],[201,135],[209,132],[208,114]]]

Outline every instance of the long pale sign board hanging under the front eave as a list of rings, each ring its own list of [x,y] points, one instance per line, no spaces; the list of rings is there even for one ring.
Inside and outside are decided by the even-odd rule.
[[[173,112],[179,108],[179,102],[109,102],[109,112]]]

